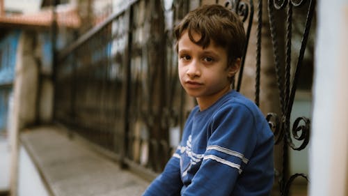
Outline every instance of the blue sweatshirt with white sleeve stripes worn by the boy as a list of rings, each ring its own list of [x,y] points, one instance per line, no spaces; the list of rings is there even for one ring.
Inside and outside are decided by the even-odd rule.
[[[180,146],[143,196],[269,195],[274,137],[259,108],[237,91],[196,106]]]

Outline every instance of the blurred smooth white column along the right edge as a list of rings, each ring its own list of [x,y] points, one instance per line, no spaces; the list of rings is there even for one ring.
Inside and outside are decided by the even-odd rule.
[[[347,195],[348,0],[317,1],[310,195]]]

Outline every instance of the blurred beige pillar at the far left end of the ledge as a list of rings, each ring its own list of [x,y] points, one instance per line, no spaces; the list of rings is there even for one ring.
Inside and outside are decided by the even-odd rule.
[[[38,65],[33,56],[34,33],[23,32],[17,47],[15,81],[13,85],[13,108],[10,113],[10,192],[17,195],[19,132],[36,120],[38,92]]]

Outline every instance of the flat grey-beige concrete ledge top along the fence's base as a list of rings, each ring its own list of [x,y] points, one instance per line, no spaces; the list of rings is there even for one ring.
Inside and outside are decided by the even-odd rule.
[[[150,183],[53,126],[21,134],[50,195],[141,195]]]

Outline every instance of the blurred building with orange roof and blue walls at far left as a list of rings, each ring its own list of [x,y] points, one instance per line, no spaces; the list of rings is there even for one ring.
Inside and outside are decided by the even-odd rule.
[[[56,37],[57,48],[72,40],[74,29],[81,25],[76,6],[62,5],[54,14],[45,3],[0,1],[0,191],[10,185],[10,165],[17,150],[17,142],[10,142],[15,141],[14,130],[52,121],[52,24],[56,21],[65,32]]]

